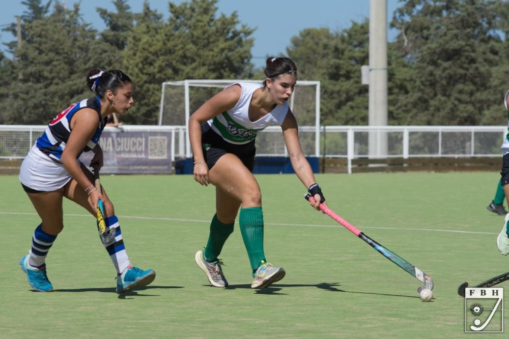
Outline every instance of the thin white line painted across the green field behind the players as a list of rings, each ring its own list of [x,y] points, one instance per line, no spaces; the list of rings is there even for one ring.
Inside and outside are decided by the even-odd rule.
[[[14,214],[14,215],[37,215],[37,213],[21,213],[21,212],[0,212],[0,214]],[[64,214],[65,217],[91,217],[90,214]],[[210,223],[210,220],[197,220],[197,219],[177,219],[177,218],[152,218],[152,217],[134,217],[132,215],[118,215],[119,219],[142,219],[142,220],[164,220],[176,222],[189,222],[189,223]],[[341,225],[313,225],[313,224],[278,224],[278,223],[265,223],[265,225],[274,226],[300,226],[300,227],[333,227],[344,228]],[[362,226],[362,229],[373,230],[402,230],[402,231],[421,231],[421,232],[446,232],[446,233],[464,233],[464,234],[489,234],[494,235],[498,233],[492,232],[473,232],[473,231],[457,231],[457,230],[444,230],[444,229],[428,229],[428,228],[398,228],[398,227],[371,227]],[[362,231],[362,230],[361,230]]]

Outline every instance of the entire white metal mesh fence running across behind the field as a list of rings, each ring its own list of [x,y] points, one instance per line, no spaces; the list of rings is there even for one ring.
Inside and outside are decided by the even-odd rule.
[[[22,159],[45,126],[0,125],[0,159]],[[110,132],[167,133],[171,161],[185,159],[185,126],[106,127]],[[325,158],[497,157],[507,133],[502,126],[315,126],[299,128],[306,156]],[[116,133],[115,138],[122,138]],[[127,134],[126,134],[127,135]],[[131,135],[131,133],[129,133]],[[118,142],[117,142],[118,141]],[[122,140],[114,140],[122,145]],[[145,145],[149,147],[149,145]],[[269,127],[256,141],[258,156],[288,156],[281,129]]]

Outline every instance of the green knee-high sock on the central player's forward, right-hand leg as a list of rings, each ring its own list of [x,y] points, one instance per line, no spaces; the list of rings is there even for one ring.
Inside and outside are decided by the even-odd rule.
[[[246,246],[251,269],[256,271],[261,261],[265,260],[263,251],[263,212],[262,207],[240,209],[240,233]]]

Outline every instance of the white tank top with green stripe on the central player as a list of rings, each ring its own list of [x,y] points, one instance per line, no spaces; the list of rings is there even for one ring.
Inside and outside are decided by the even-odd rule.
[[[229,143],[242,145],[254,140],[258,132],[263,131],[268,126],[281,126],[288,113],[288,103],[277,105],[265,116],[256,121],[251,121],[248,114],[249,104],[254,91],[263,87],[263,84],[238,82],[230,86],[233,85],[242,87],[240,99],[232,109],[207,121],[214,132]]]

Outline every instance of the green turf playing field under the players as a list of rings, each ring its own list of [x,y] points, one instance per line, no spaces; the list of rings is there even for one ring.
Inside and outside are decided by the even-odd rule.
[[[213,187],[189,175],[103,176],[131,261],[157,272],[147,288],[118,295],[93,217],[68,201],[46,260],[55,290],[31,290],[18,262],[39,218],[17,176],[0,176],[0,337],[456,338],[468,335],[458,286],[509,270],[496,248],[503,217],[486,210],[498,173],[317,175],[333,211],[431,275],[432,302],[419,299],[417,279],[313,210],[295,175],[257,178],[265,253],[287,271],[264,290],[250,289],[238,223],[220,256],[229,288],[211,287],[194,263]]]

